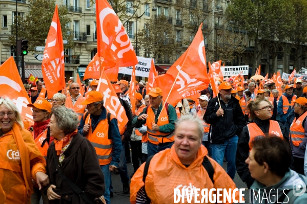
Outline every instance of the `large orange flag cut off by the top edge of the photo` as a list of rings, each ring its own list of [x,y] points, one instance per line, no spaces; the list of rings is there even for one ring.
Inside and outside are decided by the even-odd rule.
[[[107,0],[96,2],[97,56],[102,66],[133,66],[138,63],[124,26]]]

